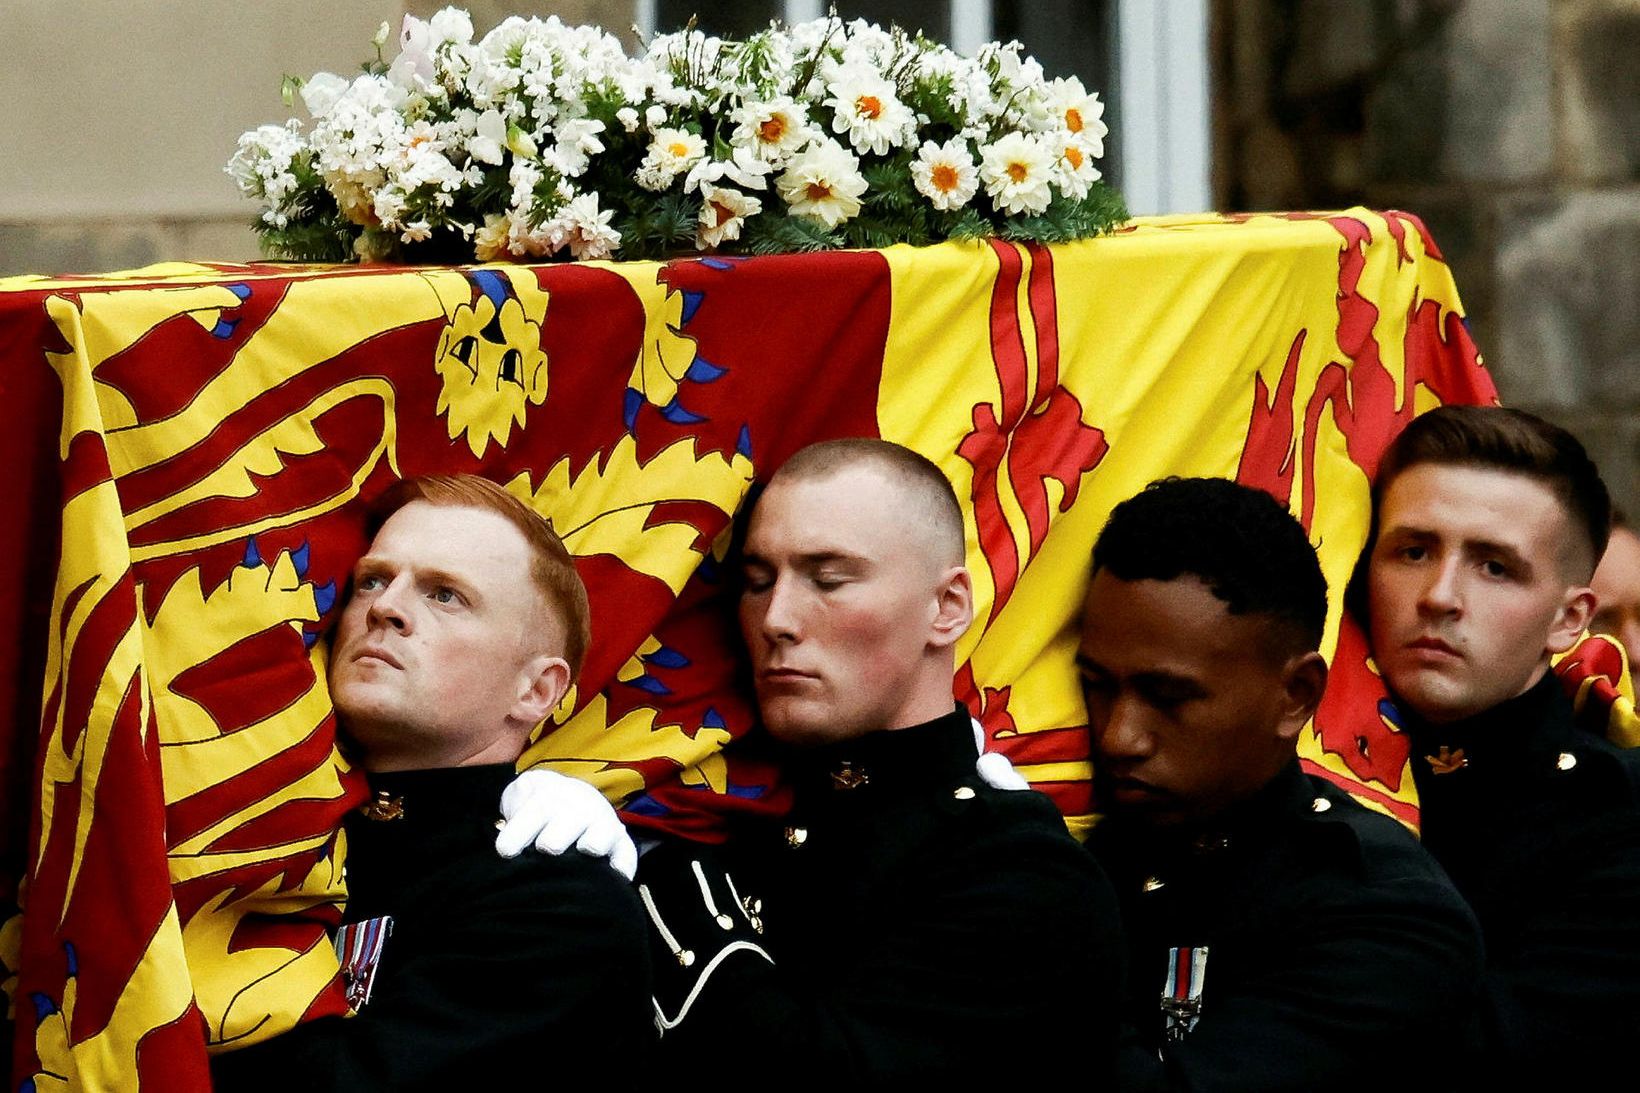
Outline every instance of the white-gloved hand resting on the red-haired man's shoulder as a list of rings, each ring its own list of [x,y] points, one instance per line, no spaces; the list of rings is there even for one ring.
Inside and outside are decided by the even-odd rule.
[[[502,830],[495,853],[515,858],[535,844],[541,853],[559,855],[569,847],[631,880],[638,871],[638,847],[604,794],[556,770],[526,770],[502,791]]]

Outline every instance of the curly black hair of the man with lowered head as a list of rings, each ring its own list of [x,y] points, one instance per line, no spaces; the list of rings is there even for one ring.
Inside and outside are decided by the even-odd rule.
[[[1164,478],[1110,510],[1094,573],[1122,581],[1199,578],[1232,615],[1287,624],[1304,650],[1327,627],[1327,578],[1304,527],[1261,489]]]

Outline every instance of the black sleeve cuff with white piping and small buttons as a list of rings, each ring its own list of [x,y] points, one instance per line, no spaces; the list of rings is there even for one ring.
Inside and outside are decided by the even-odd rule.
[[[763,947],[763,901],[743,893],[712,847],[664,842],[643,855],[638,899],[649,914],[654,1013],[661,1032],[682,1024],[707,980],[735,954],[761,958],[736,967],[769,970]]]

